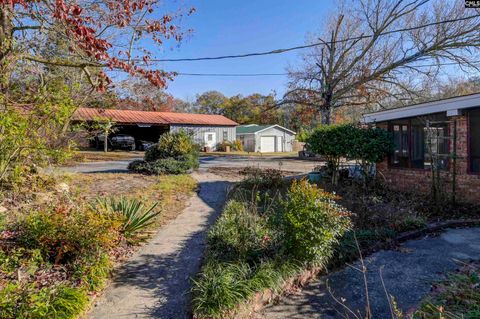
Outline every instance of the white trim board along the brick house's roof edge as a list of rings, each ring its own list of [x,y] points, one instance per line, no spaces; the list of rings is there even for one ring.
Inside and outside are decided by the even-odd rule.
[[[373,112],[363,115],[364,123],[385,122],[389,120],[447,112],[448,116],[460,114],[459,110],[480,106],[480,93],[458,96],[444,100],[421,103],[397,109]]]

